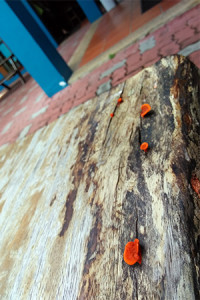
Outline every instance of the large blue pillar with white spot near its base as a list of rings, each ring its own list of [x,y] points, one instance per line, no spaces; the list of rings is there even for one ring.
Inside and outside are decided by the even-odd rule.
[[[72,71],[23,1],[0,1],[0,37],[49,97],[67,85]]]

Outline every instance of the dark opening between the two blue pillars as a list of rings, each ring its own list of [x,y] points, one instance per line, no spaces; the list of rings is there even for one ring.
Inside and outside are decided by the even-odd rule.
[[[78,30],[86,19],[76,0],[28,2],[58,44]]]

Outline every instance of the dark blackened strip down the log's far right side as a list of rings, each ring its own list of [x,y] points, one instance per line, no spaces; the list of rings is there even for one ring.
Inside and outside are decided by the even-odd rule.
[[[180,60],[184,60],[179,57]],[[199,299],[200,294],[198,290],[199,286],[199,275],[196,272],[195,265],[199,257],[199,248],[197,246],[196,235],[198,228],[194,226],[194,215],[195,215],[195,202],[192,197],[191,192],[188,190],[188,184],[190,183],[192,188],[198,195],[198,179],[193,175],[196,168],[196,161],[194,154],[190,160],[186,160],[184,149],[190,148],[190,142],[198,145],[199,137],[195,132],[200,132],[199,121],[195,124],[195,132],[193,132],[193,124],[191,120],[194,120],[194,114],[196,120],[199,120],[197,111],[193,110],[191,103],[194,102],[194,91],[200,93],[200,83],[197,78],[199,78],[197,68],[188,61],[183,61],[179,64],[178,69],[175,73],[175,79],[179,81],[177,85],[178,89],[178,102],[180,105],[181,113],[181,132],[182,132],[182,145],[177,148],[177,156],[172,161],[172,170],[175,174],[176,181],[180,188],[179,194],[179,208],[182,211],[182,224],[181,234],[185,235],[188,238],[189,243],[185,243],[184,247],[191,259],[192,263],[192,272],[193,272],[193,289],[196,299]],[[193,110],[193,111],[192,111]],[[188,200],[189,199],[189,200]],[[188,246],[190,245],[190,247]]]

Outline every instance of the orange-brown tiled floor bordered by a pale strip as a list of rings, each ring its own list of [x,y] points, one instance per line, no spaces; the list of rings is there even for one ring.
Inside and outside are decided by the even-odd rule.
[[[124,0],[101,18],[101,22],[89,44],[80,66],[127,37],[180,0],[163,0],[145,13],[141,13],[140,0]]]

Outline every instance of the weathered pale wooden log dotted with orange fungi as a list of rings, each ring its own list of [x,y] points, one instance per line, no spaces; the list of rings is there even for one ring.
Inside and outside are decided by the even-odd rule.
[[[199,79],[162,59],[0,148],[1,299],[199,299]]]

